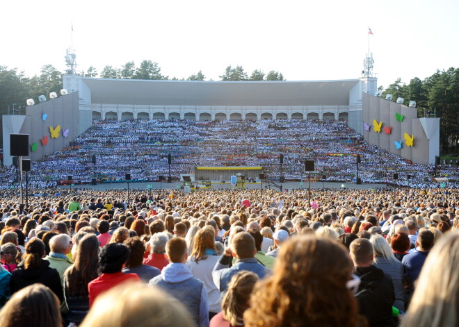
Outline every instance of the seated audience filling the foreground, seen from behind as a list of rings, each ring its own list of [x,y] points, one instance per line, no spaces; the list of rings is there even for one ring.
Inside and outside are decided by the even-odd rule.
[[[0,218],[0,326],[459,324],[458,190],[6,190]]]

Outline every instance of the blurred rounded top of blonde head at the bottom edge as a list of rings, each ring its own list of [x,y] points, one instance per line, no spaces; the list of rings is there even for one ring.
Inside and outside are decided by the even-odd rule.
[[[195,327],[182,303],[154,286],[123,283],[98,296],[80,327]]]

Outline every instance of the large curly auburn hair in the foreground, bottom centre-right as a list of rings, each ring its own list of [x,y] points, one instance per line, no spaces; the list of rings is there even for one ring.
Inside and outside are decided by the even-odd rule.
[[[344,246],[293,237],[282,244],[273,275],[255,285],[245,326],[356,326],[357,302],[346,287],[351,274]]]

